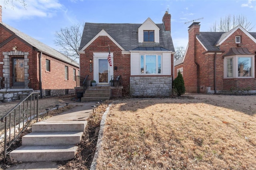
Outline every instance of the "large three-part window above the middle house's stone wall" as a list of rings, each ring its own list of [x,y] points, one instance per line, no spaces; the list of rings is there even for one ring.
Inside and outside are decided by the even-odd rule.
[[[162,74],[162,55],[140,55],[140,74]]]

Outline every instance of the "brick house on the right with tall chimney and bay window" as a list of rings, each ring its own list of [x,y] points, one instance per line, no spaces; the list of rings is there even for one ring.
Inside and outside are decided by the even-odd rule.
[[[182,69],[187,93],[256,93],[256,33],[241,25],[228,32],[200,32],[200,22],[188,28],[188,47],[174,63]]]

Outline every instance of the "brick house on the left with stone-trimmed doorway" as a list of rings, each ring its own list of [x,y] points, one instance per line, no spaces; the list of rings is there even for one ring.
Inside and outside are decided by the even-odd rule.
[[[79,64],[2,23],[0,7],[0,101],[20,100],[29,92],[74,94]]]

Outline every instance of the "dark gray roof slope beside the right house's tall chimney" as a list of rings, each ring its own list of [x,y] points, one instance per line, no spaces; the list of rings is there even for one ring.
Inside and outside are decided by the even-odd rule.
[[[206,47],[207,51],[220,51],[215,45],[223,33],[225,32],[200,32],[196,37]]]

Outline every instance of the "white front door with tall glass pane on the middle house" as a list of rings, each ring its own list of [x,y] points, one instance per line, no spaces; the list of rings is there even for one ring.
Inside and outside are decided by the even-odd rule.
[[[108,53],[94,53],[93,57],[94,80],[98,86],[109,86],[113,76],[113,66],[108,64]]]

